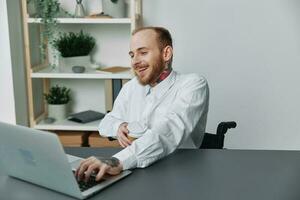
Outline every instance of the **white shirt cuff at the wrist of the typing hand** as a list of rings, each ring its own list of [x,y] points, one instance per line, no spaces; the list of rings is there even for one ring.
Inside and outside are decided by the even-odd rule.
[[[130,146],[116,153],[112,157],[117,158],[122,163],[123,170],[136,168],[137,166],[137,159],[130,149]]]

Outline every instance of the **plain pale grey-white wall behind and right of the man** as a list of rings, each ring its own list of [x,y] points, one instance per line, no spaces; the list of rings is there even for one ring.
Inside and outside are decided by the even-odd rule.
[[[174,68],[205,76],[208,132],[235,120],[225,146],[300,149],[300,1],[143,1],[144,25],[174,37]]]

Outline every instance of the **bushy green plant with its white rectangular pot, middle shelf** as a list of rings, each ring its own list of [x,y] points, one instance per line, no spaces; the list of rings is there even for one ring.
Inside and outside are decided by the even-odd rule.
[[[62,34],[53,42],[53,47],[60,53],[59,66],[66,69],[90,65],[90,53],[95,44],[95,38],[82,30]]]

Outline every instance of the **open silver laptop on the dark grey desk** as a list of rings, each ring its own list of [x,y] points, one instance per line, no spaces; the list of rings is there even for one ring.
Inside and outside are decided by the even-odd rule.
[[[77,182],[74,170],[82,158],[67,155],[56,134],[0,122],[0,168],[8,176],[86,199],[131,173]]]

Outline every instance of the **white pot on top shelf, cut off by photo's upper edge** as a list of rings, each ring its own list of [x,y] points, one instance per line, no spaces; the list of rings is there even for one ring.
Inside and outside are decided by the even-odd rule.
[[[102,0],[102,11],[114,18],[123,18],[126,14],[125,1],[118,0],[117,3],[112,3],[111,0]]]

